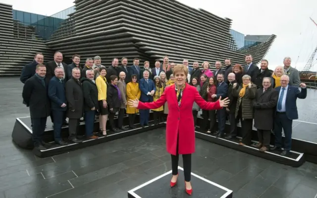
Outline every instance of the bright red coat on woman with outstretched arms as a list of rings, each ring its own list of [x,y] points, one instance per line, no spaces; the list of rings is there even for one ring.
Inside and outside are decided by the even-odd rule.
[[[220,109],[219,101],[207,102],[196,90],[196,87],[186,84],[183,91],[180,107],[176,99],[175,85],[167,87],[161,97],[155,102],[143,103],[139,101],[139,109],[156,109],[167,101],[168,115],[166,124],[166,149],[170,154],[176,155],[177,134],[178,154],[195,152],[195,127],[193,118],[194,101],[206,110]]]

